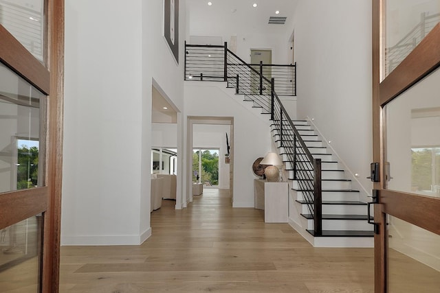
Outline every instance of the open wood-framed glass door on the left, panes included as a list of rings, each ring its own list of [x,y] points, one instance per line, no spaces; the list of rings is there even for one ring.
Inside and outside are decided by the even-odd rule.
[[[64,1],[0,1],[0,283],[58,292]]]

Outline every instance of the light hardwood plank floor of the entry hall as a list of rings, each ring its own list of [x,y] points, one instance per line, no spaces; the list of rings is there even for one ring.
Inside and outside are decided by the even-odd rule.
[[[371,248],[313,248],[218,189],[174,204],[140,246],[62,247],[60,292],[373,292]]]

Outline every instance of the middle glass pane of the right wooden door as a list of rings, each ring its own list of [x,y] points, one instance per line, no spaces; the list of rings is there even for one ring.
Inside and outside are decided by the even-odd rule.
[[[384,107],[386,188],[440,195],[440,70]]]

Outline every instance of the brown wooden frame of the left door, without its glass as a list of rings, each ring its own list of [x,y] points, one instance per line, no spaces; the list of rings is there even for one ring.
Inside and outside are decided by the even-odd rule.
[[[0,226],[44,212],[42,292],[58,292],[61,229],[61,184],[63,171],[63,93],[64,93],[64,1],[47,0],[47,67],[36,60],[0,25],[0,60],[28,80],[47,97],[45,123],[45,187],[0,195],[0,207],[14,202],[14,213],[1,211]],[[45,105],[45,103],[43,103]]]

